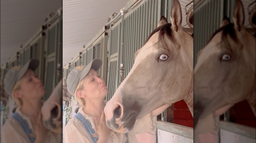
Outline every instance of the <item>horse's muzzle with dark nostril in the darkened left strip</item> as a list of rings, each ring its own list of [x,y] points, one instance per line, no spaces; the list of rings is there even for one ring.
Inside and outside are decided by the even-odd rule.
[[[45,101],[41,112],[47,129],[62,133],[62,81],[54,88],[51,96]]]

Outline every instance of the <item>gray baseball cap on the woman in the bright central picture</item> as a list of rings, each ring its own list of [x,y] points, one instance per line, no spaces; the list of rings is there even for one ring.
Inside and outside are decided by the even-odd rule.
[[[77,66],[70,71],[67,78],[68,91],[75,96],[75,88],[78,83],[88,74],[91,69],[98,71],[102,65],[102,61],[98,58],[93,59],[87,66]]]

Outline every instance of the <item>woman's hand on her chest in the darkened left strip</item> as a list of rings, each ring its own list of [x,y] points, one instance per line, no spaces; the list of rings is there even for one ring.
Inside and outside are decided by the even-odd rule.
[[[48,129],[43,124],[42,113],[40,112],[37,122],[32,119],[32,124],[34,127],[34,134],[36,135],[35,143],[43,143],[45,141]]]

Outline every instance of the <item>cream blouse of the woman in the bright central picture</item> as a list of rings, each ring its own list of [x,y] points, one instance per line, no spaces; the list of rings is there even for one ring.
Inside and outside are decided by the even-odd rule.
[[[107,101],[104,100],[104,103],[106,104]],[[85,119],[87,119],[90,122],[90,124],[92,125],[92,128],[97,133],[94,119],[92,116],[89,116],[83,112],[84,107],[85,106],[80,107],[77,113],[81,113],[85,117]],[[140,124],[141,121],[143,121],[143,124]],[[150,126],[145,126],[145,123],[148,124],[149,122],[150,122]],[[152,121],[150,118],[150,114],[143,117],[142,119],[137,120],[135,123],[134,129],[128,132],[129,143],[138,143],[137,138],[135,136],[136,134],[145,133],[147,131],[152,132],[153,130],[152,130],[151,123]],[[85,130],[84,126],[81,123],[79,123],[79,121],[74,117],[70,119],[67,125],[65,126],[63,136],[64,136],[65,143],[92,143],[93,142],[93,140]],[[126,142],[126,136],[124,133],[118,133],[110,130],[107,143],[125,143],[125,142]]]

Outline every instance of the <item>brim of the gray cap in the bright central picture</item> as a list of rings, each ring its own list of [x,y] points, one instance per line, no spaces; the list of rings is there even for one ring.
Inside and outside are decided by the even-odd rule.
[[[102,61],[98,58],[93,59],[82,71],[81,76],[79,78],[79,82],[88,74],[91,69],[98,71],[102,65]]]

